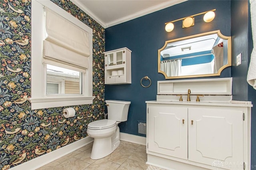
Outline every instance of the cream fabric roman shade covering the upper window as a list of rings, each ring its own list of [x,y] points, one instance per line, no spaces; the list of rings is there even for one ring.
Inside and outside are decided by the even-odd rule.
[[[44,63],[85,72],[90,56],[88,32],[48,8],[45,20]]]

